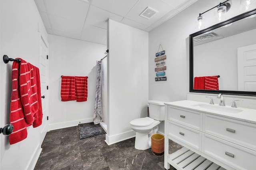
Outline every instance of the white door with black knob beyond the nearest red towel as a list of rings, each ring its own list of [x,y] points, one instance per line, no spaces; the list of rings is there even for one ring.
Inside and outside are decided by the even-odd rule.
[[[40,130],[40,144],[42,144],[46,133],[48,132],[48,91],[47,91],[47,84],[48,84],[48,47],[40,36],[40,81],[41,81],[41,96],[42,96],[42,111],[43,111],[43,118],[42,118],[42,125]]]

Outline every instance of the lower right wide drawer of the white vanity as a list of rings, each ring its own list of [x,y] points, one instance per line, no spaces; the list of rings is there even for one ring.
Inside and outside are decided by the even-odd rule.
[[[216,160],[225,162],[236,170],[255,169],[256,152],[254,150],[208,134],[203,135],[203,142],[203,152]]]

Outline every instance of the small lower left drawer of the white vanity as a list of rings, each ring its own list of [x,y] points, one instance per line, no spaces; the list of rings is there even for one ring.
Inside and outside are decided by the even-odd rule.
[[[168,135],[201,151],[201,132],[178,123],[168,121]]]

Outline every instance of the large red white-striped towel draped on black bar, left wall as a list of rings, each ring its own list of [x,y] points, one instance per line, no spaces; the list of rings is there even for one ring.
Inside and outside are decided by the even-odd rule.
[[[42,124],[42,103],[39,69],[21,59],[12,64],[12,94],[10,124],[14,129],[9,136],[10,144],[27,137],[26,127]]]

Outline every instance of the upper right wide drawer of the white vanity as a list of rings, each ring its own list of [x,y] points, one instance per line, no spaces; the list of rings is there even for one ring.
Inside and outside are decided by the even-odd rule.
[[[204,118],[205,133],[256,150],[256,124],[210,114]]]

